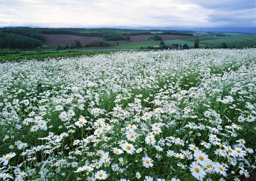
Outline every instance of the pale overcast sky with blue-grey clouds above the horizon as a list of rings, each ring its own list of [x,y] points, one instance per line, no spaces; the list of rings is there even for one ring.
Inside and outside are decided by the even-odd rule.
[[[0,26],[256,27],[256,0],[0,0]]]

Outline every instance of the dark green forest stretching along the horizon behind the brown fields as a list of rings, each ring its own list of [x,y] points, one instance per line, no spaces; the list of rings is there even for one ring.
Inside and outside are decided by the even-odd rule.
[[[154,30],[131,30],[119,28],[0,28],[0,48],[36,48],[45,42],[44,34],[67,34],[77,36],[96,36],[104,41],[130,40],[130,36],[152,34]],[[158,34],[188,35],[180,31],[164,31]]]

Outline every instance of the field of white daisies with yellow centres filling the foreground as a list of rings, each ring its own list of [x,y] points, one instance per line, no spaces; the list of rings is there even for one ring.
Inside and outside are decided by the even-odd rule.
[[[0,64],[4,180],[256,177],[256,51]]]

